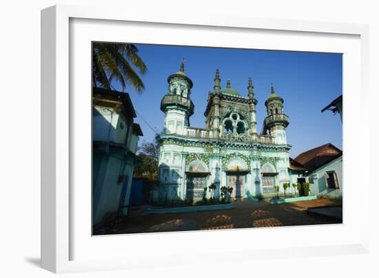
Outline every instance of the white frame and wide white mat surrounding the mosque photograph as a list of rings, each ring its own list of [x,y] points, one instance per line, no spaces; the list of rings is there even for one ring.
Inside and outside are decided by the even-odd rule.
[[[206,41],[202,32],[207,32],[212,37],[214,32],[241,34],[249,36],[263,36],[265,40],[255,48],[297,50],[297,51],[327,51],[339,52],[344,48],[344,224],[336,226],[307,226],[291,228],[261,228],[223,230],[218,232],[172,232],[169,237],[165,233],[157,235],[125,235],[109,237],[91,237],[88,233],[90,215],[90,195],[88,200],[82,200],[84,205],[77,206],[78,199],[88,195],[88,166],[90,166],[90,147],[79,148],[76,141],[80,138],[88,138],[90,125],[80,128],[81,123],[90,123],[90,95],[79,95],[78,90],[90,90],[90,68],[88,55],[74,56],[73,53],[88,51],[88,45],[79,43],[79,39],[105,40],[110,37],[102,37],[102,34],[110,28],[141,27],[141,36],[149,28],[166,28],[170,32],[188,32],[193,36],[193,45],[199,45],[199,37]],[[74,24],[74,25],[72,25]],[[76,24],[76,25],[75,25]],[[84,32],[85,28],[91,28],[96,24],[96,37],[93,32]],[[145,27],[144,27],[145,26]],[[108,29],[107,29],[108,28]],[[145,28],[146,30],[142,30]],[[161,30],[158,37],[150,37],[150,40],[138,41],[144,43],[188,44],[185,39],[170,38]],[[194,36],[194,32],[199,34]],[[212,14],[207,16],[198,14],[174,14],[165,12],[125,13],[125,10],[105,7],[80,7],[80,6],[54,6],[41,12],[41,266],[52,272],[77,272],[93,270],[110,270],[121,268],[143,268],[147,266],[177,266],[181,264],[195,264],[201,262],[199,254],[208,257],[208,263],[217,261],[225,263],[232,261],[272,259],[280,257],[309,257],[322,255],[359,254],[369,250],[369,226],[368,220],[361,215],[369,215],[369,203],[356,201],[360,206],[358,211],[353,209],[354,199],[349,195],[351,184],[357,181],[357,177],[364,170],[365,155],[369,153],[369,144],[362,143],[365,137],[369,137],[369,121],[362,121],[362,111],[369,99],[368,84],[368,26],[346,23],[322,23],[315,21],[289,21],[282,19],[255,19],[252,17],[237,17],[230,15]],[[80,36],[79,36],[80,34]],[[87,34],[87,35],[85,35]],[[110,34],[107,34],[108,36]],[[79,36],[79,37],[77,37]],[[188,38],[187,36],[187,38]],[[203,37],[202,37],[203,36]],[[283,39],[291,37],[292,40]],[[299,36],[305,37],[300,40]],[[281,45],[275,42],[280,38]],[[72,41],[72,40],[76,41]],[[126,38],[127,39],[127,38]],[[135,39],[138,40],[136,37]],[[134,39],[134,40],[135,40]],[[197,39],[197,41],[196,41]],[[322,41],[334,40],[336,44],[322,46]],[[119,41],[113,37],[112,41]],[[345,43],[342,43],[344,41]],[[310,43],[311,42],[311,43]],[[75,43],[78,43],[76,45]],[[249,48],[249,39],[243,41],[236,39],[234,43],[221,45],[218,41],[214,44],[204,42],[205,46],[221,47],[245,47]],[[244,44],[245,43],[245,44]],[[304,44],[303,44],[304,43]],[[308,43],[308,45],[307,45]],[[330,41],[329,41],[330,43]],[[211,45],[212,44],[212,45]],[[75,50],[72,50],[74,48]],[[87,49],[87,50],[85,50]],[[76,52],[79,51],[79,52]],[[71,53],[70,53],[71,51]],[[81,51],[81,52],[80,52]],[[81,59],[87,59],[81,61]],[[76,64],[72,68],[73,64]],[[75,72],[77,75],[75,75]],[[83,75],[82,78],[78,78]],[[78,83],[78,79],[80,82]],[[353,94],[355,92],[355,94]],[[359,92],[359,94],[357,93]],[[336,92],[337,93],[337,92]],[[79,103],[88,107],[78,113]],[[87,103],[88,106],[85,106]],[[351,116],[355,109],[355,117]],[[84,125],[85,126],[85,125]],[[364,132],[354,132],[354,126],[360,126]],[[80,134],[79,134],[80,133]],[[349,136],[349,135],[355,135]],[[83,146],[83,141],[81,142]],[[85,142],[84,142],[85,143]],[[73,147],[76,146],[76,147]],[[84,145],[85,146],[85,145]],[[356,146],[354,149],[351,146]],[[79,155],[79,152],[81,154]],[[74,159],[74,160],[72,160]],[[83,172],[78,172],[74,165],[83,162]],[[356,172],[350,170],[356,167]],[[77,180],[85,190],[77,190],[74,184]],[[369,176],[360,178],[359,191],[369,190]],[[88,218],[89,217],[89,218]],[[368,217],[368,216],[367,216]],[[354,224],[353,224],[354,222]],[[191,250],[195,241],[201,242],[200,246],[214,237],[236,237],[250,239],[252,235],[258,238],[269,238],[280,234],[289,238],[302,237],[303,234],[327,235],[328,232],[338,232],[338,239],[308,239],[300,243],[286,242],[272,244],[266,241],[254,244],[240,244],[223,248],[212,246]],[[201,237],[200,237],[201,235]],[[253,238],[254,238],[253,237]],[[185,238],[186,244],[181,244]],[[152,252],[150,256],[145,254],[145,246],[155,246],[159,252]],[[177,246],[187,248],[188,252],[181,254]],[[119,246],[117,249],[115,246]],[[140,246],[140,247],[139,247]],[[175,247],[176,246],[176,247]],[[107,256],[94,254],[93,250],[103,252]],[[141,249],[141,250],[139,250]],[[87,250],[87,252],[85,252]],[[132,256],[130,254],[133,254]],[[159,257],[157,257],[159,255]],[[181,256],[178,256],[181,255]],[[209,256],[212,255],[212,256]],[[233,259],[230,256],[233,255]]]

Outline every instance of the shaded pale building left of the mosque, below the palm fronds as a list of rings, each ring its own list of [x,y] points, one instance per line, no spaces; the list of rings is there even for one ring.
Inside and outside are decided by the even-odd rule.
[[[130,96],[93,88],[92,223],[94,227],[127,214],[139,137]]]

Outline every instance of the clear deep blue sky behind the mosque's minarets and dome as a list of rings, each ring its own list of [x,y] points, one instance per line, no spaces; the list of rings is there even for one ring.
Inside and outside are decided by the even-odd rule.
[[[167,77],[179,70],[185,58],[185,72],[192,79],[194,115],[191,126],[204,127],[203,115],[207,94],[213,91],[216,68],[220,70],[221,88],[231,79],[232,88],[247,97],[248,78],[252,77],[254,94],[258,100],[256,118],[258,132],[266,117],[265,100],[269,97],[270,83],[284,99],[285,113],[290,123],[287,143],[292,145],[291,157],[305,150],[333,143],[342,149],[342,123],[339,115],[330,111],[321,113],[333,99],[342,94],[342,54],[315,52],[287,52],[273,50],[243,50],[231,48],[199,48],[187,46],[136,45],[148,71],[142,76],[145,90],[138,95],[127,88],[136,111],[150,126],[161,131],[164,114],[159,109],[167,93]],[[121,90],[119,84],[114,88]],[[141,119],[136,118],[143,130],[143,140],[150,142],[154,132]]]

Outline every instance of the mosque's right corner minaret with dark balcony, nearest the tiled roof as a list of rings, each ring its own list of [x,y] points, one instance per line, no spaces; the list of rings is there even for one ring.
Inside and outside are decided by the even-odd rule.
[[[271,83],[271,94],[265,106],[267,108],[267,117],[263,123],[263,134],[269,133],[275,138],[277,144],[287,144],[287,137],[285,128],[289,125],[289,118],[283,111],[284,100],[279,97],[275,90],[274,85]]]

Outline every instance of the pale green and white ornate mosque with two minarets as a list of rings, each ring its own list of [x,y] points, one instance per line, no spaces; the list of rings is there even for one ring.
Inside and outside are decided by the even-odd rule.
[[[159,184],[154,199],[202,199],[204,190],[216,185],[232,186],[233,198],[271,197],[274,186],[290,181],[289,149],[286,128],[289,118],[283,99],[272,86],[265,106],[267,117],[257,132],[254,86],[249,78],[247,97],[231,88],[227,79],[221,88],[216,70],[213,92],[208,93],[204,112],[205,128],[190,126],[194,114],[191,100],[192,80],[185,74],[184,63],[167,79],[168,91],[161,101],[165,127],[157,136],[160,146]]]

